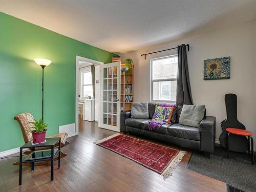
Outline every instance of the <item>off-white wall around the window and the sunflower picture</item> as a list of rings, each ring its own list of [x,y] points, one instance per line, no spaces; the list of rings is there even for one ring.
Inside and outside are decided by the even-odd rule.
[[[215,31],[191,36],[173,42],[122,54],[134,60],[134,101],[150,101],[150,56],[144,60],[143,53],[189,44],[187,52],[192,96],[195,104],[205,104],[207,115],[216,116],[216,139],[222,133],[220,122],[226,119],[224,95],[238,96],[238,119],[256,141],[256,20],[242,25],[223,26]],[[151,57],[173,54],[161,52]],[[203,80],[203,60],[230,56],[230,79]],[[254,142],[256,146],[256,142]]]

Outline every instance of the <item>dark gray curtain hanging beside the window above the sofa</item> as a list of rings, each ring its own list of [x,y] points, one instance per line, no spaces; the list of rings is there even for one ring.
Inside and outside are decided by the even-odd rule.
[[[189,82],[186,45],[178,46],[177,104],[193,104]]]

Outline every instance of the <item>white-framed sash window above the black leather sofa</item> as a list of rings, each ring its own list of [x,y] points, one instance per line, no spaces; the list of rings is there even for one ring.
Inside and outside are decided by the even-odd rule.
[[[176,101],[178,56],[151,59],[151,100]]]

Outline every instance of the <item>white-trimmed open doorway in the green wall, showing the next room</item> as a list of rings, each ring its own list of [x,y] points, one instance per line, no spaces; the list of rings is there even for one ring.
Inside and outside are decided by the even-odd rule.
[[[76,56],[76,134],[79,133],[79,125],[83,121],[99,120],[100,65],[103,62]]]

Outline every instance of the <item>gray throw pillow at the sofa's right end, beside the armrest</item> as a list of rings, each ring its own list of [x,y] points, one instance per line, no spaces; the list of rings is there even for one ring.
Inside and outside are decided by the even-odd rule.
[[[204,118],[205,105],[187,105],[184,104],[179,124],[199,127]]]

